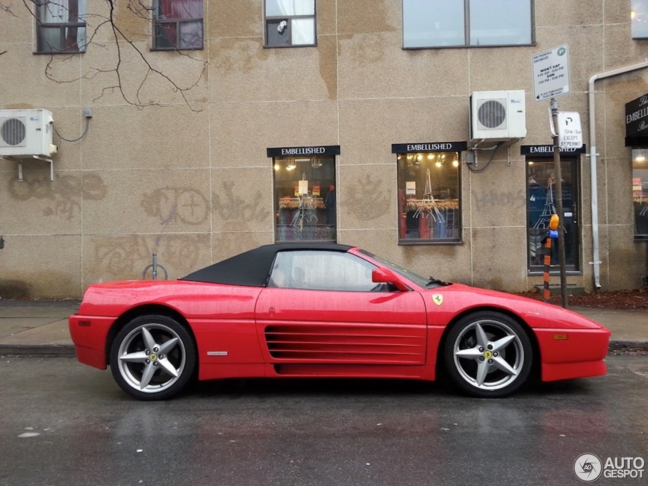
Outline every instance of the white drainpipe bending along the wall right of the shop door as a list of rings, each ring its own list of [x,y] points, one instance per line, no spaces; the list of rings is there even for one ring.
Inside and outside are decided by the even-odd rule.
[[[601,257],[599,254],[599,209],[598,197],[599,191],[596,183],[596,115],[594,108],[594,82],[599,79],[610,78],[612,76],[629,73],[637,69],[648,67],[648,61],[640,64],[633,64],[627,67],[619,67],[607,73],[594,75],[590,78],[588,86],[588,104],[590,109],[590,176],[592,180],[592,264],[594,265],[594,286],[596,289],[601,288]]]

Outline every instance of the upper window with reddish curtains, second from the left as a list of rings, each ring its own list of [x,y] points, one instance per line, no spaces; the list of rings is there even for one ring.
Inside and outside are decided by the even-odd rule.
[[[203,48],[203,0],[157,0],[153,49]]]

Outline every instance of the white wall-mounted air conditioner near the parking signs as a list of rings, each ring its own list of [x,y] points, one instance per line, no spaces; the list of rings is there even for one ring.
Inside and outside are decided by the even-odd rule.
[[[475,91],[470,97],[470,141],[526,137],[524,90]]]

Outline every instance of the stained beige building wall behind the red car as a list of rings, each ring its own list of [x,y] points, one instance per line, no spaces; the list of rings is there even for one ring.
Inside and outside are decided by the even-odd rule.
[[[88,0],[106,14],[105,3]],[[126,41],[97,32],[87,52],[35,55],[22,5],[0,11],[0,108],[46,108],[55,136],[54,181],[45,162],[0,159],[0,297],[80,297],[87,285],[141,277],[152,253],[170,278],[273,242],[272,166],[266,148],[340,145],[338,242],[421,273],[527,290],[526,161],[520,145],[551,143],[548,102],[533,101],[531,56],[567,43],[568,95],[589,148],[590,76],[643,62],[630,1],[535,2],[527,47],[402,49],[401,2],[318,2],[318,46],[264,49],[262,0],[205,2],[205,49],[150,51],[150,24],[117,4],[117,21],[164,77]],[[96,20],[95,20],[96,22]],[[48,67],[49,66],[49,67]],[[47,73],[47,75],[46,75]],[[53,80],[51,79],[53,78]],[[472,91],[526,91],[527,137],[481,173],[461,165],[463,244],[399,246],[393,143],[469,139]],[[601,284],[632,288],[648,274],[633,242],[631,150],[625,103],[648,92],[645,70],[596,84]],[[127,102],[126,100],[130,101]],[[150,106],[135,106],[136,104]],[[480,154],[480,157],[484,157]],[[481,159],[480,159],[481,160]],[[592,289],[590,167],[581,156],[581,270]]]

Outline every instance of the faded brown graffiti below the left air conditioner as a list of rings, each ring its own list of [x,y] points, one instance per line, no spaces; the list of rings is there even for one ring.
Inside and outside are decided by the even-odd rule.
[[[70,221],[75,214],[81,213],[82,198],[102,200],[108,194],[108,187],[97,174],[80,177],[62,174],[57,175],[54,181],[50,181],[47,174],[29,174],[23,181],[12,179],[9,194],[18,201],[45,200],[45,216],[59,216]]]

